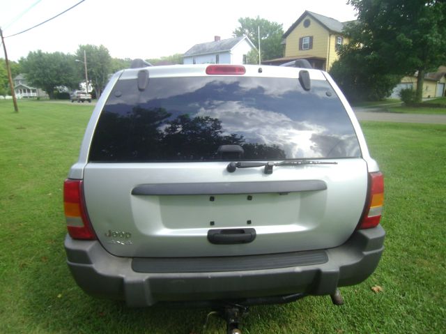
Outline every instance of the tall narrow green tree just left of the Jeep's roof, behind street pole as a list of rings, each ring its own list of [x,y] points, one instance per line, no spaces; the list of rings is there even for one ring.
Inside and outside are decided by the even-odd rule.
[[[109,75],[112,73],[112,57],[109,50],[104,45],[79,45],[76,52],[76,58],[84,61],[84,50],[86,52],[86,64],[89,75],[89,81],[95,89],[96,96],[99,98],[105,84],[109,81]],[[84,66],[78,65],[78,73],[84,77]]]

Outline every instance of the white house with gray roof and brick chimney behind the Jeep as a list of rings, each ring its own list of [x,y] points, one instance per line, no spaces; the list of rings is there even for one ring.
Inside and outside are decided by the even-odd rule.
[[[228,38],[221,40],[220,36],[215,36],[213,42],[200,43],[191,47],[183,54],[183,63],[246,63],[249,51],[256,47],[252,42],[244,37]]]

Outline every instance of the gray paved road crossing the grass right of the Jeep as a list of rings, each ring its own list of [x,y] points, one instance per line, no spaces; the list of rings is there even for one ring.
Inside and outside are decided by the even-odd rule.
[[[380,108],[353,108],[357,119],[360,121],[446,124],[446,115],[397,114],[382,112],[381,110]]]

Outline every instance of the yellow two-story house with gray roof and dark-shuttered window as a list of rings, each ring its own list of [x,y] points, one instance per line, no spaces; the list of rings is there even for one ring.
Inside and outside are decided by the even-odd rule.
[[[349,21],[351,22],[351,21]],[[313,68],[330,70],[338,59],[337,47],[348,43],[342,29],[349,22],[339,22],[331,17],[309,10],[284,33],[284,56],[263,61],[267,65],[280,65],[295,59],[307,59]]]

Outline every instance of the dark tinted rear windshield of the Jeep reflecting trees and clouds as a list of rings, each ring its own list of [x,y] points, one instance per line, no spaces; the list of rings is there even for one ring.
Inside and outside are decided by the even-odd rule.
[[[231,145],[231,146],[229,146]],[[241,149],[240,149],[241,148]],[[116,82],[93,135],[92,162],[286,160],[360,156],[325,80],[151,78]]]

